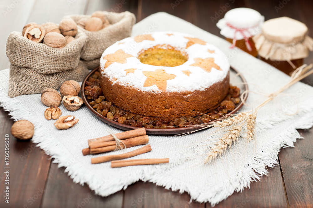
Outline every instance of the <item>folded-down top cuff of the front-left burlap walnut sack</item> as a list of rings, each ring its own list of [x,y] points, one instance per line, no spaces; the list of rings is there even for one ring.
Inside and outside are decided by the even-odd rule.
[[[9,34],[6,53],[11,64],[31,68],[38,73],[53,74],[75,69],[87,36],[78,30],[75,40],[64,48],[51,48],[43,43],[34,43],[22,36],[22,33]]]

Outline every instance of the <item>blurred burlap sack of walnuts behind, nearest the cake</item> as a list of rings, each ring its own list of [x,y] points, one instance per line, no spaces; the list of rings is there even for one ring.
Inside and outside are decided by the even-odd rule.
[[[88,36],[81,59],[84,60],[89,69],[99,66],[100,57],[107,47],[116,41],[130,37],[131,29],[136,23],[135,15],[127,11],[122,13],[104,12],[104,14],[112,25],[96,32],[81,28]],[[77,23],[82,18],[89,18],[90,15],[69,15],[64,18],[67,17],[72,18]]]

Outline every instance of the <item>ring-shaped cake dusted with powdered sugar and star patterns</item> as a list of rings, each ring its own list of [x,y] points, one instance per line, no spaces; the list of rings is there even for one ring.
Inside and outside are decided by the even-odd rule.
[[[158,118],[207,113],[227,95],[229,63],[212,44],[177,32],[125,38],[100,59],[107,100]]]

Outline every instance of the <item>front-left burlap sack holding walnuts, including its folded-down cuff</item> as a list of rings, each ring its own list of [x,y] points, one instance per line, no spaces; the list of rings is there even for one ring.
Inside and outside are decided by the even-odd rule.
[[[88,69],[80,61],[80,53],[87,41],[81,29],[75,40],[64,48],[52,48],[33,43],[22,33],[9,34],[6,53],[11,62],[8,95],[41,93],[45,88],[58,89],[66,80],[82,81]]]

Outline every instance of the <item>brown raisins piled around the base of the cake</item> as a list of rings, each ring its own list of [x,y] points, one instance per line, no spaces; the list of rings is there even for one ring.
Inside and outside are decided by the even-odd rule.
[[[230,86],[228,94],[220,103],[220,106],[215,110],[208,112],[206,115],[197,115],[196,117],[181,117],[181,118],[155,118],[139,114],[133,114],[129,111],[120,109],[110,101],[105,99],[100,88],[100,73],[96,71],[86,81],[85,96],[98,113],[106,116],[110,120],[114,120],[121,124],[127,124],[135,127],[155,128],[155,129],[172,129],[175,127],[187,127],[196,124],[208,123],[211,120],[219,119],[224,114],[235,109],[240,102],[240,89],[236,86]]]

